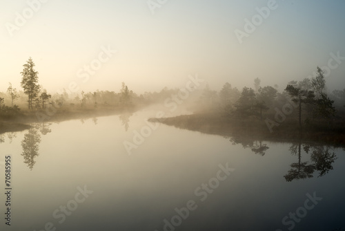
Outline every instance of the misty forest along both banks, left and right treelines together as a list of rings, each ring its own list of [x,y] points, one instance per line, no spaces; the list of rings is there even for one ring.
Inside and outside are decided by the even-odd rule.
[[[145,92],[138,95],[122,82],[121,89],[115,91],[94,91],[68,93],[49,93],[39,84],[39,73],[34,62],[28,59],[21,71],[21,90],[8,84],[8,91],[0,93],[0,122],[24,118],[49,120],[50,116],[76,111],[99,111],[139,109],[150,104],[167,104],[171,95],[178,95],[179,89],[165,87],[159,92]],[[230,78],[229,78],[230,80]],[[253,88],[245,86],[242,91],[226,82],[217,92],[208,84],[195,91],[197,98],[189,109],[194,113],[219,113],[229,118],[254,118],[266,123],[272,131],[286,116],[295,118],[300,129],[311,124],[326,124],[334,120],[343,121],[345,109],[345,88],[328,91],[326,79],[321,68],[317,75],[302,81],[288,82],[284,91],[278,86],[261,86],[256,78]],[[38,121],[39,122],[39,121]]]

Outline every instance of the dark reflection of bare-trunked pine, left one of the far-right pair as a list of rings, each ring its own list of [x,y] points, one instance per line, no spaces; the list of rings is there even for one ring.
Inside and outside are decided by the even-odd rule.
[[[298,155],[298,163],[292,163],[288,174],[284,176],[285,180],[290,182],[294,179],[304,179],[313,177],[314,165],[307,165],[308,162],[301,162],[301,142],[291,145],[290,149],[292,155]]]

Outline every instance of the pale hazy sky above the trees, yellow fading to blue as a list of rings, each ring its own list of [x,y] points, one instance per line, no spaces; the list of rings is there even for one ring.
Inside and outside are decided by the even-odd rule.
[[[253,87],[259,77],[282,90],[328,66],[331,53],[341,58],[331,60],[326,84],[345,87],[344,0],[151,0],[155,9],[147,0],[44,1],[0,1],[0,91],[8,82],[21,89],[29,57],[50,92],[70,82],[84,91],[119,91],[121,82],[138,93],[160,91],[184,87],[195,73],[211,89]],[[267,6],[259,16],[256,8]],[[246,33],[242,44],[235,30]],[[107,48],[117,53],[108,57]],[[97,70],[84,71],[90,64]]]

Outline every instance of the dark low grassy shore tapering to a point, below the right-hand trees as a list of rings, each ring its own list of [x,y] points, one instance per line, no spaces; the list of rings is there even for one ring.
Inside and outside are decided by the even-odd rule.
[[[201,133],[219,135],[224,137],[252,138],[272,142],[318,142],[335,147],[345,147],[345,125],[314,124],[299,131],[298,122],[293,119],[286,120],[274,127],[270,132],[264,120],[257,118],[226,117],[220,113],[199,113],[193,115],[179,115],[172,118],[150,118],[150,122],[199,131]]]

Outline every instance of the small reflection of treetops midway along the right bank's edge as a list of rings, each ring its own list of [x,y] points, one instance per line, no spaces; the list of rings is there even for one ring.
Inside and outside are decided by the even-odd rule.
[[[253,140],[252,138],[245,136],[233,136],[229,139],[233,145],[241,144],[244,149],[250,148],[255,154],[259,154],[261,156],[264,156],[266,154],[266,150],[269,149],[266,144],[262,143],[262,140]]]

